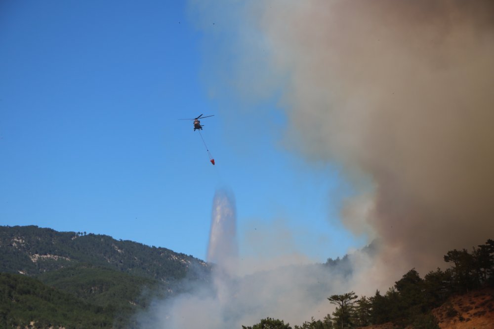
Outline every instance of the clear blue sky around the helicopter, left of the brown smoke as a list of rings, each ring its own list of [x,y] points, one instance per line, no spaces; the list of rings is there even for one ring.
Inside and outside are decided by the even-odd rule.
[[[0,224],[107,234],[205,259],[214,192],[228,188],[243,256],[259,252],[246,237],[269,239],[280,227],[291,247],[274,254],[325,261],[361,247],[364,238],[338,223],[350,187],[328,163],[284,147],[276,95],[256,104],[211,95],[211,39],[190,9],[1,2]],[[214,115],[202,123],[215,166],[192,123],[177,120],[201,113]],[[252,235],[258,227],[266,234]]]

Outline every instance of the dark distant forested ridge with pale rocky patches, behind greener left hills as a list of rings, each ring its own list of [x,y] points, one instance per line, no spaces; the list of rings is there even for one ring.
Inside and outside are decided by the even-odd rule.
[[[208,265],[201,259],[166,248],[34,225],[0,226],[0,253],[0,272],[29,276],[78,263],[105,266],[162,282],[184,278],[193,266],[208,271]]]

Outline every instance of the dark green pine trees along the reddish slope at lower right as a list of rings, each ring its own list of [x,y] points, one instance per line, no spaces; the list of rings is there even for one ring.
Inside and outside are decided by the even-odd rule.
[[[396,281],[387,292],[378,290],[374,295],[360,298],[355,292],[328,297],[336,305],[334,312],[323,320],[311,319],[293,329],[343,329],[379,325],[392,322],[406,327],[439,329],[432,309],[449,297],[482,288],[494,288],[494,240],[472,252],[452,250],[444,256],[451,264],[446,270],[437,268],[421,278],[413,268]],[[266,318],[243,329],[292,329],[283,320]]]

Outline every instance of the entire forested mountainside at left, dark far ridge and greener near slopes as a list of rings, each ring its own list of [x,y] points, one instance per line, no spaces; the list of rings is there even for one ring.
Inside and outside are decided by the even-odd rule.
[[[0,328],[133,328],[153,298],[210,272],[166,248],[37,226],[0,226],[0,253]]]

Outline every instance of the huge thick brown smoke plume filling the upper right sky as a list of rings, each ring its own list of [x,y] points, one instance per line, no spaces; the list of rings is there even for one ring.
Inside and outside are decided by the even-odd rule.
[[[205,31],[221,65],[208,64],[227,78],[211,89],[282,95],[289,145],[360,191],[342,220],[378,239],[383,275],[426,274],[492,238],[493,1],[227,2],[198,16],[219,22]]]

